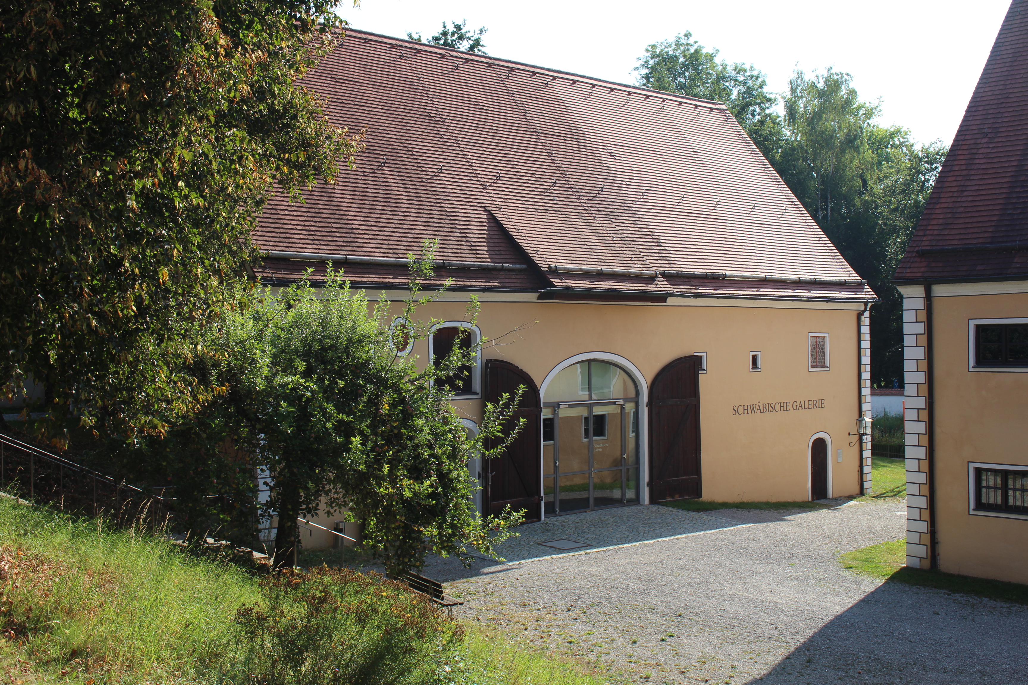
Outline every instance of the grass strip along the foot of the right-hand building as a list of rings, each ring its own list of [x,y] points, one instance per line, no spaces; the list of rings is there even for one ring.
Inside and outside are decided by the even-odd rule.
[[[888,582],[1028,605],[1028,585],[908,568],[905,566],[906,554],[907,541],[896,540],[848,551],[839,558],[839,562],[843,568]]]

